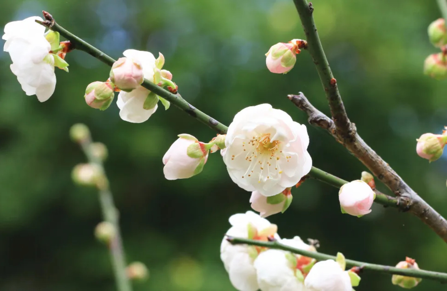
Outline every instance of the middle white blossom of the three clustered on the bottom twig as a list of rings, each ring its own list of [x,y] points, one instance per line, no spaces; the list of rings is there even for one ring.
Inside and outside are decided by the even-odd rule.
[[[293,239],[279,241],[283,245],[289,245],[296,249],[315,251],[311,245],[307,245],[295,236]],[[259,254],[254,262],[257,274],[257,282],[261,291],[304,291],[304,277],[297,275],[303,265],[313,263],[311,258],[292,254],[278,249],[268,249]]]

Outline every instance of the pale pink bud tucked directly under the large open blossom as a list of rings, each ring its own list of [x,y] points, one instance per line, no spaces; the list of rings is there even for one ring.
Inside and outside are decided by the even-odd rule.
[[[279,212],[284,212],[292,202],[292,194],[290,188],[286,188],[283,192],[266,197],[259,191],[253,191],[250,197],[251,207],[254,211],[258,211],[261,217],[267,217]]]

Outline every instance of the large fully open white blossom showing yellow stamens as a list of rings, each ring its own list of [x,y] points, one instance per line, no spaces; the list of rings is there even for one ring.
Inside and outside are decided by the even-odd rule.
[[[309,173],[308,144],[305,125],[283,110],[261,104],[236,114],[228,127],[223,161],[238,186],[273,196]]]

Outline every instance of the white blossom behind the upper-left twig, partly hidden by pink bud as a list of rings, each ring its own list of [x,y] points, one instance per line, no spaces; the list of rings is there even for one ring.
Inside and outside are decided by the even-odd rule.
[[[152,81],[154,80],[154,69],[156,69],[155,57],[148,51],[126,50],[122,53],[129,59],[135,59],[143,68],[144,78]],[[157,110],[156,104],[153,108],[146,110],[143,108],[144,101],[148,97],[149,91],[143,86],[139,86],[131,92],[121,91],[118,94],[119,116],[122,120],[134,123],[145,122]]]

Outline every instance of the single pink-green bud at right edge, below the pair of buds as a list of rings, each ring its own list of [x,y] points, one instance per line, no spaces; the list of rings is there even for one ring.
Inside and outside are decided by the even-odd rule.
[[[432,162],[442,156],[444,146],[447,143],[447,135],[424,133],[416,140],[417,155]]]

